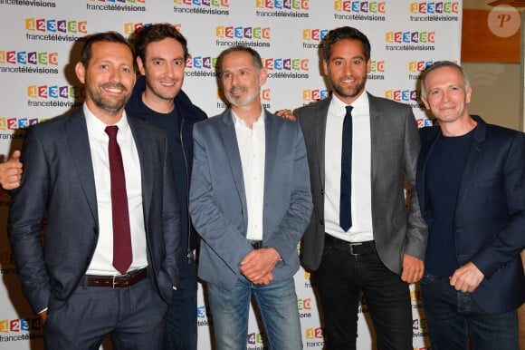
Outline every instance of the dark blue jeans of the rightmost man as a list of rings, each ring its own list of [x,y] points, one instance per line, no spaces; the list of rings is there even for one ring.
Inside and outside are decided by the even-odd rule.
[[[469,350],[469,339],[475,350],[520,350],[516,310],[486,313],[471,293],[450,286],[448,277],[428,273],[421,280],[421,297],[433,350]]]

